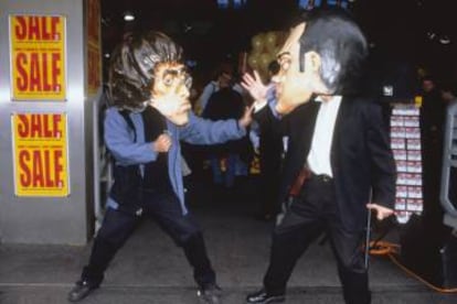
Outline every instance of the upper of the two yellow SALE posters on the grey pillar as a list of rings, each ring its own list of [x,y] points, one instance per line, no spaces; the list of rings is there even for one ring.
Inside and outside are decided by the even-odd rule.
[[[65,100],[65,22],[62,15],[10,15],[13,100]]]

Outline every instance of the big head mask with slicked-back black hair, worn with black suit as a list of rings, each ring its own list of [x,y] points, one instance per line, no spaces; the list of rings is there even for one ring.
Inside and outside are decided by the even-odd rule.
[[[365,57],[365,37],[344,12],[307,13],[278,53],[277,110],[287,113],[312,95],[352,93]]]

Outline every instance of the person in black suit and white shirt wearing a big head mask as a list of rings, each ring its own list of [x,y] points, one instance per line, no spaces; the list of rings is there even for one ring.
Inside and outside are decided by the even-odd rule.
[[[350,17],[315,11],[293,28],[278,54],[277,100],[265,100],[258,74],[243,77],[256,99],[256,119],[268,116],[268,105],[289,137],[280,195],[305,180],[274,229],[263,287],[247,295],[247,303],[284,302],[297,260],[322,231],[346,303],[371,302],[361,245],[369,210],[380,220],[394,213],[396,172],[381,106],[357,95],[366,53],[365,37]]]

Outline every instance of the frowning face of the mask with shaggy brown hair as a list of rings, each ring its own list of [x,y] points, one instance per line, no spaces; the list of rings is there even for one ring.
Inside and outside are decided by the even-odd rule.
[[[189,121],[192,78],[180,63],[160,63],[155,68],[150,105],[177,126]]]

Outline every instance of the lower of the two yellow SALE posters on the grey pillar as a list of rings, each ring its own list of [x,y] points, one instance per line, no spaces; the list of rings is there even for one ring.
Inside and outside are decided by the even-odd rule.
[[[70,194],[66,113],[13,113],[14,193]]]

